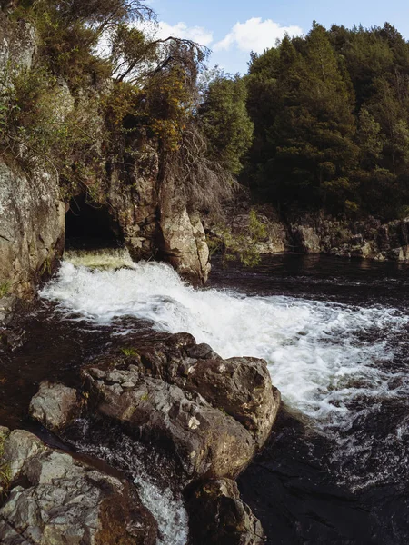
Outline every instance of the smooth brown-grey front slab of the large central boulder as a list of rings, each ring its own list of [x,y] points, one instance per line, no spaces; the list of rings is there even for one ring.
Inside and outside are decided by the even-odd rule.
[[[169,447],[186,475],[234,478],[252,459],[251,434],[195,393],[148,378],[132,362],[83,371],[96,410],[145,441]]]

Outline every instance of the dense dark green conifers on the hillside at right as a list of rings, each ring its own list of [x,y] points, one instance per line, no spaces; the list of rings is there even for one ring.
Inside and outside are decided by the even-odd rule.
[[[314,23],[252,55],[254,143],[242,174],[282,211],[408,215],[409,45],[391,25]]]

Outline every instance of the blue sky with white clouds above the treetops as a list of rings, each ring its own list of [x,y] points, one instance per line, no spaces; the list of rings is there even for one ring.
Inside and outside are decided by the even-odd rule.
[[[177,35],[209,47],[209,64],[245,73],[250,52],[263,53],[277,39],[306,34],[314,20],[332,24],[384,25],[409,39],[409,0],[148,0],[161,37]]]

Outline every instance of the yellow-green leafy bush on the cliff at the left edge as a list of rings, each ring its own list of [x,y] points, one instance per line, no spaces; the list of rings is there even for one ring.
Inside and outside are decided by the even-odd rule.
[[[44,167],[67,191],[84,182],[94,172],[92,120],[99,105],[90,99],[75,107],[64,85],[42,66],[5,71],[0,87],[1,153],[28,174]]]

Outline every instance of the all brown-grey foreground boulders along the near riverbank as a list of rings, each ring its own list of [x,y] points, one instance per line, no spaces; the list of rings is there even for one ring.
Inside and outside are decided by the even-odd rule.
[[[31,401],[31,417],[61,438],[65,451],[28,431],[2,429],[2,542],[65,543],[69,535],[73,543],[148,545],[159,539],[133,481],[70,450],[78,449],[76,422],[90,421],[173,461],[192,544],[261,544],[260,522],[234,479],[263,448],[279,407],[262,360],[224,360],[186,333],[115,341],[83,366],[77,388],[44,381]]]

